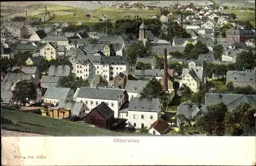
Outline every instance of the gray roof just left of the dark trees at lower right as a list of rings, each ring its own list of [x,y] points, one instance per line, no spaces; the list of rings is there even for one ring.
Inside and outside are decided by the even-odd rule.
[[[186,119],[193,119],[199,112],[207,113],[206,105],[182,103],[177,108],[177,115],[184,115]]]

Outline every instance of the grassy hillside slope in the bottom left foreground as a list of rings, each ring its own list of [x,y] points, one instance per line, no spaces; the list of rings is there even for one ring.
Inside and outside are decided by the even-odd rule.
[[[21,126],[2,124],[2,129],[6,130],[34,132],[52,136],[135,136],[135,134],[104,130],[85,124],[44,117],[29,112],[19,112],[2,108],[1,114],[2,117],[21,124]]]

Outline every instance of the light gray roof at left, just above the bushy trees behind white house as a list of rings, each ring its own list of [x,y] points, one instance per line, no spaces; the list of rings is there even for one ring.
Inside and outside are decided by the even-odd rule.
[[[49,74],[48,75],[68,76],[69,74],[70,74],[69,65],[59,65],[59,66],[52,65],[49,68]]]

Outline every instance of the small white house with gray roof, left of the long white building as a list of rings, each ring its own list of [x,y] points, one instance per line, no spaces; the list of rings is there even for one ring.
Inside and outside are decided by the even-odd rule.
[[[74,91],[70,88],[49,87],[43,97],[44,103],[53,103],[59,101],[72,101]]]

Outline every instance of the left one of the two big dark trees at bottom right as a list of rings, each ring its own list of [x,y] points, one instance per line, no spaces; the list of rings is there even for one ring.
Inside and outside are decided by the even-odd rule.
[[[224,119],[227,112],[227,106],[222,102],[208,106],[207,110],[208,112],[198,120],[198,125],[207,133],[207,135],[224,135]]]

